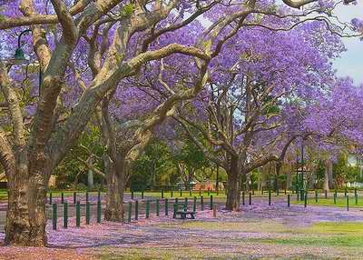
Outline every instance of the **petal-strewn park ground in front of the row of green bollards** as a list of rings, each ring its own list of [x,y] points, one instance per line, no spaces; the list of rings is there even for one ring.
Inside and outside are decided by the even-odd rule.
[[[61,219],[59,226],[62,225]],[[84,221],[83,221],[84,222]],[[92,221],[95,222],[94,220]],[[219,205],[196,220],[156,217],[51,230],[49,247],[0,247],[0,259],[362,259],[363,211],[254,198],[239,213]],[[0,240],[3,234],[0,233]],[[4,235],[3,235],[4,236]]]

